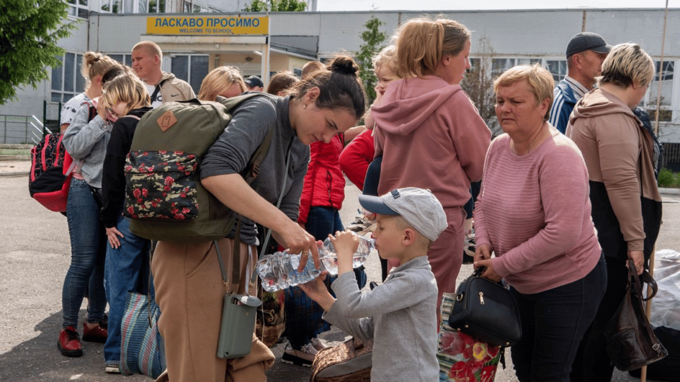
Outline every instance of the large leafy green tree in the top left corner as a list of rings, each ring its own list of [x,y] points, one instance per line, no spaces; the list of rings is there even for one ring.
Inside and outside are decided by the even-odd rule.
[[[16,86],[50,78],[64,50],[56,43],[75,29],[62,0],[0,0],[0,105],[16,99]]]

